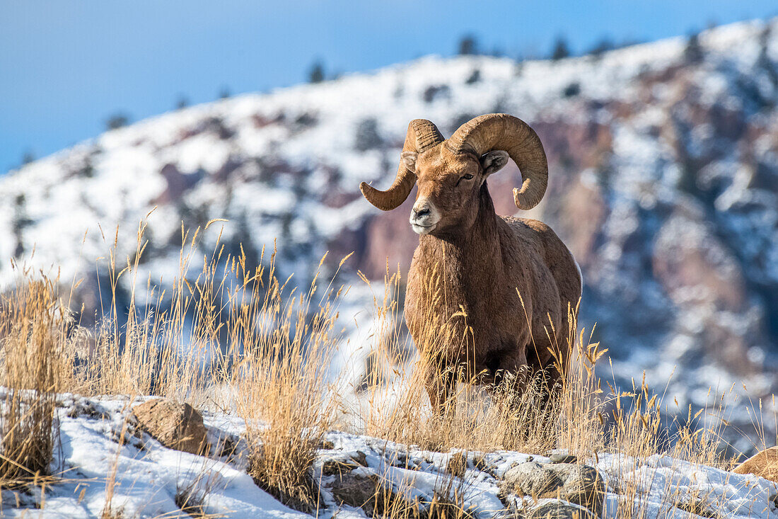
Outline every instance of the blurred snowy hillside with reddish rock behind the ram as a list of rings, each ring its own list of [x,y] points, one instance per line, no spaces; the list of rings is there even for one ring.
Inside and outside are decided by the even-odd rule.
[[[359,182],[391,183],[412,118],[450,135],[475,115],[508,112],[538,131],[549,159],[544,202],[526,216],[551,224],[583,268],[582,323],[598,323],[615,376],[647,370],[661,389],[672,373],[668,396],[681,409],[741,380],[761,397],[778,383],[776,102],[776,20],[707,31],[699,46],[676,38],[558,62],[427,57],[242,95],[107,132],[0,179],[0,280],[13,281],[7,259],[34,249],[32,264],[85,278],[75,308],[85,305],[88,322],[108,287],[107,260],[100,274],[94,260],[117,225],[119,263],[134,256],[138,221],[156,207],[138,279],[170,283],[181,222],[223,218],[202,253],[223,225],[228,251],[242,243],[254,263],[277,238],[281,273],[300,282],[328,250],[327,273],[356,252],[339,281],[361,284],[357,270],[380,281],[387,257],[407,269],[417,240],[408,203],[380,213]],[[516,212],[519,179],[513,167],[489,181],[500,214]],[[364,293],[348,308],[369,307]]]

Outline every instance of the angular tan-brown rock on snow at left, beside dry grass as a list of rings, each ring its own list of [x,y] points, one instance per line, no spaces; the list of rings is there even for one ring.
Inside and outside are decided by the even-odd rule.
[[[132,408],[138,426],[169,449],[201,454],[209,449],[202,415],[189,404],[155,398]]]

